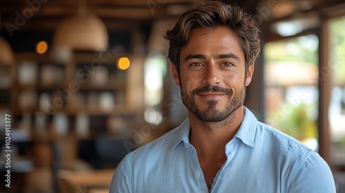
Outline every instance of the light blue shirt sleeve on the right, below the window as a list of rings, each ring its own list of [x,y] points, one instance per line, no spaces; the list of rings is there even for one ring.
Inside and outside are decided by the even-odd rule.
[[[288,192],[335,193],[333,174],[326,161],[315,152],[310,154],[297,172]]]

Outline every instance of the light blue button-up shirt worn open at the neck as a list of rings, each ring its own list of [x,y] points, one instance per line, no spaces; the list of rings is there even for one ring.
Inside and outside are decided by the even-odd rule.
[[[110,193],[208,192],[188,119],[159,139],[130,152],[112,177]],[[327,163],[292,137],[257,121],[250,110],[226,144],[227,160],[211,192],[333,193]]]

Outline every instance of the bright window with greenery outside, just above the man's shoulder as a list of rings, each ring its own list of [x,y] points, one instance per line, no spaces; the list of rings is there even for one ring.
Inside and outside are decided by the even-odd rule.
[[[314,34],[266,43],[266,123],[318,148],[319,40]]]

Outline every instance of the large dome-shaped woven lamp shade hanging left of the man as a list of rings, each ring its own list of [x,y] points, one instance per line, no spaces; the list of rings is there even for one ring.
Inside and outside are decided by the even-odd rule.
[[[108,47],[108,39],[108,30],[101,19],[83,11],[63,20],[57,26],[53,46],[100,52]]]

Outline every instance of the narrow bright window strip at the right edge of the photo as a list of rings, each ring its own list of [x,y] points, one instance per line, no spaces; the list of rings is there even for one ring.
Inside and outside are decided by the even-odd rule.
[[[328,110],[333,163],[345,165],[345,17],[331,19],[329,29],[329,64],[331,101]]]

